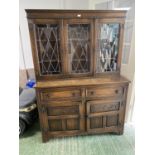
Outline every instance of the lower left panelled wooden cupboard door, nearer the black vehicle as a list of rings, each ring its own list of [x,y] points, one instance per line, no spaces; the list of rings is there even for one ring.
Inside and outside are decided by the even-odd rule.
[[[82,102],[58,101],[46,104],[49,132],[77,133],[85,130],[84,105]]]

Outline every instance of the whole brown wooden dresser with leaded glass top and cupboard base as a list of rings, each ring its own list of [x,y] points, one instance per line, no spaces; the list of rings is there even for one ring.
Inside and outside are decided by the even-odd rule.
[[[126,11],[26,10],[42,140],[123,134]]]

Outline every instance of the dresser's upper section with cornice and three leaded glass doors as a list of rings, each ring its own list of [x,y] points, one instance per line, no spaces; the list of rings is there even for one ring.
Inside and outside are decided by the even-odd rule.
[[[27,10],[27,17],[38,80],[119,73],[125,11]]]

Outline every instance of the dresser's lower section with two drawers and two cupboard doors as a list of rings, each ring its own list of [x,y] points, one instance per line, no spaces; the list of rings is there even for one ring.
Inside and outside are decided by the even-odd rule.
[[[37,89],[42,141],[123,134],[128,84]]]

